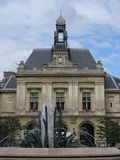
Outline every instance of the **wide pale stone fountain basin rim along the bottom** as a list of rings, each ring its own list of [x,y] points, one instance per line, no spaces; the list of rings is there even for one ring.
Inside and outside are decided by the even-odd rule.
[[[117,148],[0,148],[0,160],[118,160]]]

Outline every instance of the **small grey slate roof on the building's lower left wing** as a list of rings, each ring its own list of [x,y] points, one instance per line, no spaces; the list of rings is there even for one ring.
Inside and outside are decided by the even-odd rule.
[[[15,90],[16,89],[16,77],[10,76],[3,78],[0,82],[0,90]]]

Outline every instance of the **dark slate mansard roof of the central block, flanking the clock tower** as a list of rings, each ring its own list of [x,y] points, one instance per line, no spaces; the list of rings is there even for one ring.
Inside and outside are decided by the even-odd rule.
[[[41,69],[52,60],[51,49],[34,49],[25,62],[25,70]],[[69,60],[78,64],[80,69],[96,69],[96,62],[88,49],[70,48]]]

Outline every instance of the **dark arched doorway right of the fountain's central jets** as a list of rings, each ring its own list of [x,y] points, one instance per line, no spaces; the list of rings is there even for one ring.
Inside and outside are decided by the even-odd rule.
[[[95,145],[94,127],[90,122],[84,122],[80,126],[80,141],[85,146]]]

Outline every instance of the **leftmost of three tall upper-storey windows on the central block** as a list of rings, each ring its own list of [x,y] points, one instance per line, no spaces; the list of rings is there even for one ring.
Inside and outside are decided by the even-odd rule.
[[[38,92],[30,92],[30,110],[38,110]]]

